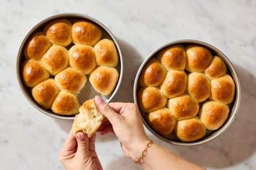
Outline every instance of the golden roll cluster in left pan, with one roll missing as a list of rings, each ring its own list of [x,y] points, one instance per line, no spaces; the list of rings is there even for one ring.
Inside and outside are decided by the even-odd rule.
[[[25,85],[39,105],[55,114],[78,114],[78,95],[86,83],[107,96],[119,79],[114,42],[88,20],[49,22],[28,40],[24,56]]]

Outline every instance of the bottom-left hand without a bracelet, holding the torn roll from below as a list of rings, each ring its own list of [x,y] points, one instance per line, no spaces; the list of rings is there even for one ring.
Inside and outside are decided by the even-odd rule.
[[[88,138],[83,132],[73,136],[72,129],[63,144],[59,159],[66,169],[102,169],[95,151],[96,135]]]

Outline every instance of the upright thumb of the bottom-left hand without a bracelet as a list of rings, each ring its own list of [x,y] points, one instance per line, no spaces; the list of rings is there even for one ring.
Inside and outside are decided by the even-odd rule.
[[[83,132],[76,133],[77,151],[78,156],[89,156],[89,139]]]

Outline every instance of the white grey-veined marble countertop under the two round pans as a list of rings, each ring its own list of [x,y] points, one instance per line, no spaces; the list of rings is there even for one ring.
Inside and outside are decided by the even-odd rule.
[[[133,102],[136,72],[151,52],[173,40],[195,39],[233,62],[242,87],[233,124],[207,144],[157,144],[207,169],[256,169],[256,1],[1,1],[0,169],[63,169],[58,153],[72,125],[41,114],[20,91],[16,58],[25,35],[60,13],[87,14],[104,23],[123,53],[124,76],[114,102]],[[104,169],[140,169],[125,157],[114,135],[96,139]]]

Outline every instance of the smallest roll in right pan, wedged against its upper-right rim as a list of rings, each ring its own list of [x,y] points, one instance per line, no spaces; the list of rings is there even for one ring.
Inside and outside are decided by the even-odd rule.
[[[213,56],[213,61],[205,69],[205,74],[210,79],[217,79],[226,74],[226,64],[219,56]]]

